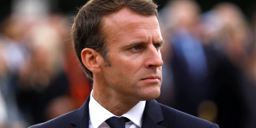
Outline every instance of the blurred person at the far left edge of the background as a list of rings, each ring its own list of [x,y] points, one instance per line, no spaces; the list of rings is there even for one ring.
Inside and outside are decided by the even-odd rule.
[[[6,127],[26,125],[16,103],[16,78],[18,70],[28,57],[28,48],[23,42],[27,24],[20,16],[11,15],[1,23],[0,33],[0,91],[6,108]]]

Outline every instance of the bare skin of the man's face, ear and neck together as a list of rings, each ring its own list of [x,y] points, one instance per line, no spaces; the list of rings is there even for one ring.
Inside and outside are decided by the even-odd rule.
[[[163,43],[155,16],[144,16],[122,8],[103,18],[111,66],[90,48],[82,51],[86,68],[93,72],[94,99],[116,116],[139,101],[159,97]]]

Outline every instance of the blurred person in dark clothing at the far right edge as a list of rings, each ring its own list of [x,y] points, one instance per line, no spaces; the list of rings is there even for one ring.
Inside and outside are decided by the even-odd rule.
[[[201,36],[212,67],[219,126],[255,126],[251,118],[255,117],[255,113],[251,113],[255,83],[247,75],[253,51],[252,30],[240,9],[232,3],[219,3],[202,15],[202,21]]]

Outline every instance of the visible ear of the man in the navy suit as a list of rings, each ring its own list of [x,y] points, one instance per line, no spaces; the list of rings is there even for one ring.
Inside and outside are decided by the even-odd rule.
[[[102,56],[99,52],[96,52],[94,49],[91,48],[84,48],[81,53],[81,58],[83,61],[84,66],[89,69],[93,73],[100,73],[100,62]]]

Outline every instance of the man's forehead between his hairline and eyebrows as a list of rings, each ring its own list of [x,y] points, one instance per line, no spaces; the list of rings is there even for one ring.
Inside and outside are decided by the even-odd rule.
[[[145,16],[123,7],[118,12],[103,17],[103,31],[134,31],[134,29],[159,29],[156,16]]]

